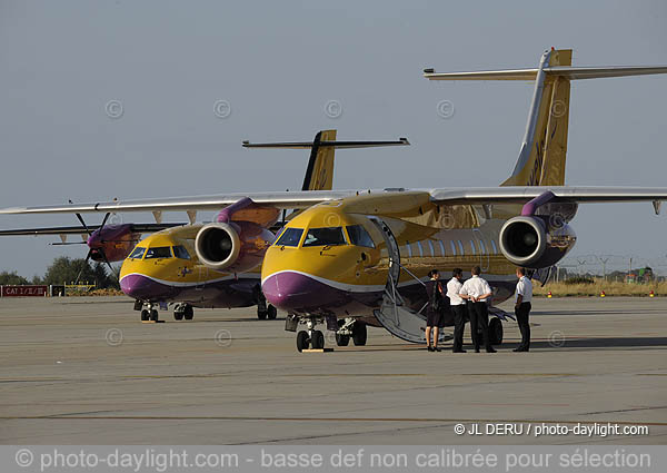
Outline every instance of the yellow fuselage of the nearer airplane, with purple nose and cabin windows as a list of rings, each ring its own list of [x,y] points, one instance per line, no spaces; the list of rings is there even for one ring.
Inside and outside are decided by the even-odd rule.
[[[370,319],[392,273],[401,297],[419,312],[430,269],[469,274],[480,266],[497,304],[516,283],[516,267],[499,249],[504,223],[505,216],[485,218],[472,206],[438,207],[424,193],[323,203],[292,219],[267,250],[262,290],[291,314]]]

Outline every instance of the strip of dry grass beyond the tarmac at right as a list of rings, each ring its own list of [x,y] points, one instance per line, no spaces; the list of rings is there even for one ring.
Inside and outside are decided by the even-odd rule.
[[[539,287],[539,283],[534,284],[532,293],[536,296],[546,296],[549,290],[554,297],[567,296],[595,296],[599,297],[604,290],[605,296],[636,296],[648,297],[653,290],[655,296],[667,296],[667,283],[649,283],[649,284],[627,284],[616,282],[605,282],[596,279],[593,284],[565,284],[565,283],[548,283],[544,287]]]

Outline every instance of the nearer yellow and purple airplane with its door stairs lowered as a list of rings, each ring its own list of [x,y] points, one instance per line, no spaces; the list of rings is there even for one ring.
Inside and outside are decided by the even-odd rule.
[[[255,257],[230,223],[260,225],[285,209],[293,216],[266,249],[261,288],[288,312],[286,329],[297,349],[323,347],[317,324],[337,343],[365,345],[367,325],[424,343],[424,279],[432,267],[479,265],[494,302],[512,294],[516,265],[544,279],[574,246],[569,221],[579,204],[651,201],[656,213],[667,188],[565,186],[570,80],[665,73],[667,67],[571,67],[571,50],[548,50],[538,68],[436,73],[431,80],[534,80],[528,125],[517,165],[500,187],[348,189],[245,193],[91,204],[13,207],[0,214],[199,211],[222,209],[211,235],[210,260],[242,268]],[[212,225],[212,224],[210,224]],[[263,242],[265,244],[267,240]],[[197,243],[196,243],[197,247]],[[201,248],[205,248],[203,246]],[[213,255],[211,255],[213,256]],[[240,272],[240,269],[235,269]],[[491,307],[492,335],[501,338],[505,314]]]

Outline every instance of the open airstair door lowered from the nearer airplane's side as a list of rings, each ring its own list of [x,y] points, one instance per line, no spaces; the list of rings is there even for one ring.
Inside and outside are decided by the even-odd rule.
[[[389,270],[382,297],[382,306],[374,311],[374,314],[390,334],[408,342],[426,343],[426,315],[407,307],[398,292],[401,265],[400,252],[394,233],[391,233],[391,229],[382,219],[375,216],[369,216],[368,218],[382,234],[389,254]],[[424,309],[425,307],[420,312],[424,312]],[[445,334],[440,335],[440,339],[446,339]]]

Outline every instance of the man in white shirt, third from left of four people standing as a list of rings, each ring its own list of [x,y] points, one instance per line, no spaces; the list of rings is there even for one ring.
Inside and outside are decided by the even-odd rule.
[[[479,277],[481,274],[479,266],[475,266],[471,273],[472,277],[464,283],[459,295],[470,303],[468,312],[470,314],[470,335],[475,344],[475,353],[479,353],[480,339],[478,331],[481,331],[481,338],[487,353],[496,353],[489,339],[489,312],[487,307],[487,299],[492,294],[491,286]]]

